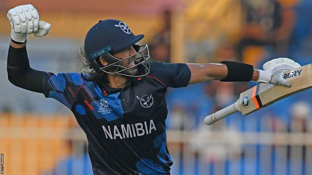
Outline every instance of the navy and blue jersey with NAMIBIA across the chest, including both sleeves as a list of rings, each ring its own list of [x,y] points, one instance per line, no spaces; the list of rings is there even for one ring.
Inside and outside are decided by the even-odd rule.
[[[130,78],[122,89],[85,81],[80,73],[48,74],[44,94],[74,113],[87,136],[95,175],[170,174],[165,93],[188,85],[186,64],[153,62],[149,75]]]

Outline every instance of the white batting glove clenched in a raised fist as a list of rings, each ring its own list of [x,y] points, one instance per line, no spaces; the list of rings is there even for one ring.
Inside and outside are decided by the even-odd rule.
[[[39,21],[39,14],[31,4],[10,9],[7,18],[11,23],[11,37],[18,42],[25,42],[27,35],[32,33],[36,37],[47,35],[51,29],[49,23]]]

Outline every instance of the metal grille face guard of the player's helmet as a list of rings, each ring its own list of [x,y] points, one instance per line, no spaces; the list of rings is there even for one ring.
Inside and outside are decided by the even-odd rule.
[[[147,44],[140,45],[140,46],[134,45],[133,47],[137,51],[137,53],[126,58],[114,57],[109,52],[101,55],[101,57],[109,64],[106,66],[100,67],[98,70],[101,70],[105,73],[119,74],[119,75],[124,75],[124,76],[129,76],[129,77],[142,77],[142,76],[147,75],[149,73],[149,47]],[[123,65],[121,65],[123,61],[126,61],[127,63],[131,61],[134,63],[134,65],[131,67],[124,67]],[[100,63],[96,63],[95,60],[94,62],[98,66],[101,65]],[[135,68],[138,69],[138,72],[136,75],[131,75],[129,73],[126,73],[127,70],[135,69]]]

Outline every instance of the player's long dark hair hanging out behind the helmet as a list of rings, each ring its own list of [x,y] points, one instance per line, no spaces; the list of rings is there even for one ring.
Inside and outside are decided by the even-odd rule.
[[[87,57],[85,56],[85,50],[84,47],[81,46],[80,47],[80,51],[77,48],[77,54],[78,54],[78,59],[80,60],[81,64],[79,65],[79,67],[81,69],[87,69],[87,71],[84,71],[84,73],[86,74],[86,76],[81,72],[81,77],[82,79],[84,79],[85,81],[96,81],[96,82],[105,82],[107,83],[107,73],[99,70],[99,71],[95,71],[91,66],[90,66],[90,62],[88,61]],[[95,59],[97,63],[100,63],[100,59],[96,58]],[[80,69],[80,70],[81,70]]]

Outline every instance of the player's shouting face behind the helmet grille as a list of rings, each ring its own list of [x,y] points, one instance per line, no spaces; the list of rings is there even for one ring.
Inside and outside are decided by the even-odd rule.
[[[127,58],[127,57],[129,57],[133,54],[136,54],[136,53],[137,52],[134,50],[134,48],[132,46],[129,46],[127,49],[123,50],[122,52],[113,54],[113,56],[116,58],[123,59],[123,58]],[[135,60],[135,55],[130,57],[129,59],[124,59],[121,62],[121,65],[126,67],[126,68],[130,68],[130,67],[135,65],[134,60]],[[125,70],[125,72],[128,73],[129,75],[135,75],[138,72],[138,68],[135,66],[131,69]]]

